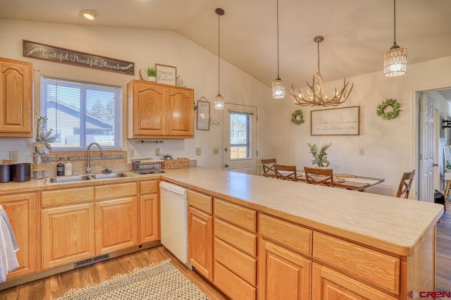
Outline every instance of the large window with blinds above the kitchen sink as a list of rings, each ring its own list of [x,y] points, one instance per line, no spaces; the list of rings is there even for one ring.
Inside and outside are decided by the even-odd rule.
[[[42,77],[41,91],[41,115],[56,135],[55,150],[92,142],[121,148],[121,87]]]

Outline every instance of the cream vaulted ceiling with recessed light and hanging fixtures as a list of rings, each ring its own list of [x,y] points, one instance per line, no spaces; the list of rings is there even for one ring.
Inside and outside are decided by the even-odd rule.
[[[0,0],[0,18],[173,30],[271,86],[277,77],[276,0]],[[94,21],[83,9],[99,11]],[[397,0],[396,42],[408,64],[451,55],[451,1]],[[280,77],[302,87],[317,71],[316,35],[325,81],[383,68],[393,45],[393,0],[279,0]],[[407,72],[409,67],[407,66]]]

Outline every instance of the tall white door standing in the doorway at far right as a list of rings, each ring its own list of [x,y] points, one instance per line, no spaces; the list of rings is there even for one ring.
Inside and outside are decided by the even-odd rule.
[[[434,101],[431,96],[420,95],[419,111],[419,200],[434,201]]]

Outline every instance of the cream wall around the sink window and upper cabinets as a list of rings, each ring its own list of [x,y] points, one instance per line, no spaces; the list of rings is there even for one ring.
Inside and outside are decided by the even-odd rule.
[[[23,39],[132,61],[135,63],[135,76],[23,57]],[[216,111],[213,107],[214,96],[218,94],[218,56],[173,31],[0,19],[0,56],[32,61],[35,70],[40,70],[35,72],[37,107],[39,107],[39,78],[47,75],[121,86],[125,110],[127,83],[132,79],[139,79],[141,68],[161,63],[176,66],[177,74],[180,75],[178,85],[193,88],[196,100],[204,96],[211,102],[211,116],[221,117],[221,111]],[[271,90],[268,87],[226,61],[221,61],[221,94],[228,102],[259,106],[263,110],[266,110],[268,100],[272,100]],[[160,148],[163,153],[171,154],[175,158],[195,158],[197,165],[209,168],[220,167],[219,155],[213,154],[213,148],[219,147],[221,143],[221,126],[219,125],[210,126],[209,131],[195,130],[194,139],[166,139],[163,144],[157,145],[139,144],[137,140],[125,139],[125,134],[123,136],[123,149],[134,148],[135,158],[155,157],[154,149]],[[8,151],[18,150],[20,161],[30,162],[32,141],[32,139],[23,138],[0,138],[0,159],[8,158]],[[196,147],[202,148],[201,156],[196,155]]]

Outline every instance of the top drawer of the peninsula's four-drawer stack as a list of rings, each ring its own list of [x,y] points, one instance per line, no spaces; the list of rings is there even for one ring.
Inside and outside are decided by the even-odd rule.
[[[257,232],[257,212],[252,209],[215,198],[214,214],[237,226]]]

